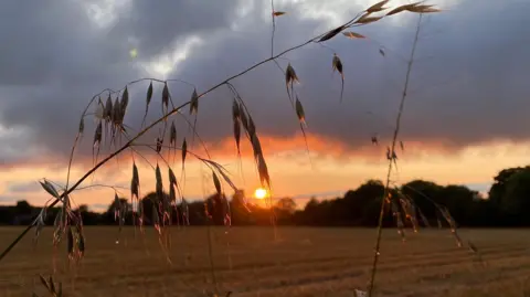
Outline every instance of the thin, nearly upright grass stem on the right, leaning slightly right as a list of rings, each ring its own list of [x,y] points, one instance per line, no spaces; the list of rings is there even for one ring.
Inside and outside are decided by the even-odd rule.
[[[380,255],[380,247],[381,247],[381,235],[383,233],[383,216],[384,216],[384,203],[386,200],[386,197],[390,193],[390,174],[392,173],[392,162],[394,160],[393,156],[395,152],[395,144],[398,140],[398,135],[400,132],[400,127],[401,127],[401,116],[403,115],[403,109],[405,107],[405,99],[406,99],[406,91],[409,89],[409,81],[411,76],[411,70],[412,65],[414,63],[414,53],[416,52],[416,44],[417,44],[417,39],[420,35],[420,29],[421,29],[421,23],[422,23],[422,14],[420,14],[420,18],[417,20],[416,24],[416,34],[414,36],[414,42],[412,44],[412,50],[411,50],[411,55],[409,59],[407,67],[406,67],[406,76],[405,76],[405,83],[403,86],[403,93],[401,95],[401,103],[400,103],[400,109],[398,112],[398,117],[395,119],[395,129],[394,129],[394,135],[392,137],[392,147],[390,150],[390,159],[389,159],[389,170],[386,172],[386,184],[384,187],[384,193],[383,193],[383,199],[381,200],[381,210],[379,212],[379,223],[378,223],[378,238],[375,240],[375,251],[373,254],[373,264],[372,264],[372,274],[370,277],[370,286],[368,289],[368,296],[372,297],[373,293],[373,284],[375,282],[375,273],[378,269],[378,262],[379,262],[379,255]]]

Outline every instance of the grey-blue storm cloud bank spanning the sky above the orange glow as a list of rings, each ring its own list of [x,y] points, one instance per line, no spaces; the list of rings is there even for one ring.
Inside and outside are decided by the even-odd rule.
[[[269,20],[262,18],[269,8],[262,1],[131,1],[117,22],[104,29],[91,21],[78,1],[31,2],[31,9],[6,2],[0,12],[4,28],[0,31],[4,44],[0,47],[0,124],[25,131],[12,141],[4,141],[7,136],[0,134],[4,165],[39,153],[67,156],[78,116],[95,93],[147,76],[140,62],[174,50],[189,36],[199,36],[202,43],[169,77],[192,82],[199,91],[271,54]],[[243,4],[248,6],[246,14]],[[277,19],[276,52],[330,28],[304,18],[298,4],[282,9],[289,13]],[[351,14],[359,9],[352,6]],[[458,148],[494,138],[526,137],[530,124],[524,113],[530,94],[528,9],[530,3],[521,0],[486,0],[481,6],[462,1],[449,11],[425,18],[403,119],[405,139],[444,140]],[[301,81],[297,91],[310,132],[351,148],[365,144],[374,132],[389,135],[406,70],[403,57],[411,50],[417,15],[400,18],[405,20],[403,25],[385,20],[358,30],[383,43],[385,57],[379,55],[374,41],[337,36],[326,43],[328,47],[311,44],[278,60],[283,67],[290,62]],[[130,40],[139,52],[135,61],[128,54]],[[333,51],[344,64],[342,105],[339,76],[331,74]],[[261,134],[289,137],[299,129],[284,82],[273,63],[233,82]],[[147,83],[130,88],[126,121],[134,127],[141,121],[146,87]],[[176,103],[189,99],[191,91],[171,84]],[[157,95],[153,113],[160,110]],[[225,87],[201,99],[198,127],[205,140],[231,136],[230,106]],[[87,120],[84,148],[88,155],[92,129]],[[186,130],[180,121],[179,135]]]

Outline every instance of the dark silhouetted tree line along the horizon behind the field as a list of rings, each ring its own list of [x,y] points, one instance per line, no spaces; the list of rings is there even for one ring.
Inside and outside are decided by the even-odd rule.
[[[237,191],[231,198],[213,194],[204,201],[180,201],[167,213],[172,224],[189,225],[278,225],[309,226],[375,226],[378,224],[380,203],[383,199],[384,184],[379,180],[369,180],[343,197],[318,201],[311,198],[303,208],[297,209],[290,198],[275,201],[273,208],[252,203]],[[144,224],[152,225],[163,216],[157,206],[163,199],[155,192],[145,195],[141,201]],[[530,215],[530,166],[504,169],[494,178],[487,197],[464,185],[439,185],[424,180],[413,180],[394,187],[385,198],[385,226],[395,226],[396,218],[404,224],[447,225],[446,214],[451,214],[458,226],[528,226]],[[125,206],[125,208],[124,208]],[[123,211],[123,222],[134,224],[135,213],[130,202],[120,198],[113,201],[107,211],[96,213],[87,205],[80,205],[84,225],[114,225],[116,210]],[[59,208],[46,210],[46,224],[53,224]],[[26,201],[19,201],[14,206],[0,206],[0,224],[30,224],[41,208],[32,206]]]

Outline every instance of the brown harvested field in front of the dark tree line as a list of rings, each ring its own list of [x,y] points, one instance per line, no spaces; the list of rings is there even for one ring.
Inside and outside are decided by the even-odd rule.
[[[17,227],[0,229],[2,248]],[[38,274],[63,282],[66,296],[353,296],[369,279],[375,231],[272,227],[172,229],[172,264],[151,229],[145,240],[125,229],[86,227],[86,255],[68,265],[54,256],[51,230],[38,246],[29,234],[1,263],[0,296],[44,294]],[[462,230],[479,256],[458,248],[448,231],[424,230],[402,243],[384,230],[377,296],[530,296],[528,230]],[[215,282],[209,257],[211,234]],[[138,235],[138,234],[137,234]],[[55,261],[54,261],[55,259]]]

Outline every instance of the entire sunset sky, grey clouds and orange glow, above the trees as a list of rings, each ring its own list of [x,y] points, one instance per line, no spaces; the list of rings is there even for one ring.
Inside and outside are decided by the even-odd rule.
[[[271,2],[258,0],[29,0],[0,9],[0,203],[50,197],[38,181],[66,183],[68,156],[83,109],[105,88],[121,89],[139,78],[170,82],[176,104],[190,99],[271,56]],[[373,4],[371,0],[275,0],[274,51],[298,45],[333,29]],[[407,3],[392,0],[390,7]],[[424,15],[412,66],[392,181],[425,179],[487,191],[501,169],[524,166],[530,156],[530,32],[526,0],[431,0],[443,12]],[[30,9],[31,8],[31,9]],[[418,14],[404,12],[356,28],[367,39],[342,35],[308,44],[277,60],[296,70],[295,85],[307,120],[307,147],[277,65],[266,63],[232,81],[250,109],[268,165],[274,197],[337,197],[369,179],[385,178],[389,145],[403,92]],[[379,52],[383,49],[385,55]],[[136,56],[130,52],[135,50]],[[343,63],[344,91],[332,72],[336,53]],[[138,131],[146,109],[148,81],[132,84],[125,123]],[[161,88],[147,121],[161,116]],[[103,99],[106,98],[104,94]],[[195,139],[176,116],[178,142],[225,166],[247,193],[259,187],[252,150],[242,142],[237,158],[232,137],[233,96],[225,86],[201,97]],[[88,113],[94,113],[94,106]],[[85,118],[70,184],[93,166],[95,118]],[[155,128],[141,144],[155,144]],[[379,146],[370,138],[378,135]],[[125,144],[121,139],[121,145]],[[119,145],[119,144],[118,144]],[[140,145],[140,144],[139,144]],[[99,160],[117,147],[105,144]],[[140,168],[141,191],[153,189],[151,166],[167,161],[180,178],[180,155],[157,158],[144,147],[125,151],[102,167],[91,184],[127,188],[131,158]],[[174,159],[174,161],[173,161]],[[188,157],[184,195],[213,192],[211,173]],[[223,185],[229,194],[231,190]],[[128,189],[117,189],[129,197]],[[91,187],[74,192],[77,204],[105,208],[114,190]]]

